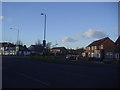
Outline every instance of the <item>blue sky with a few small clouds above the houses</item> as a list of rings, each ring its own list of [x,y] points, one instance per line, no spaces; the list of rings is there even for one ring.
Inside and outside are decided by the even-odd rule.
[[[118,37],[117,2],[3,2],[2,40],[19,39],[30,46],[43,40],[46,14],[46,41],[66,48],[86,47],[91,42]],[[14,28],[14,29],[10,29]]]

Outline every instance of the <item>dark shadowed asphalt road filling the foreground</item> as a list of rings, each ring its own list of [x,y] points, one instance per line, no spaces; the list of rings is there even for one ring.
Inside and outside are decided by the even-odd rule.
[[[67,65],[3,57],[2,88],[118,88],[115,65]]]

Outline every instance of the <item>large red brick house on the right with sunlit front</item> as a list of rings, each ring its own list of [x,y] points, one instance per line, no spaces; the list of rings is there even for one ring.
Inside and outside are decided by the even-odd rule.
[[[94,58],[113,58],[115,50],[115,43],[109,38],[102,38],[96,40],[86,47],[86,51],[83,53],[85,57]]]

